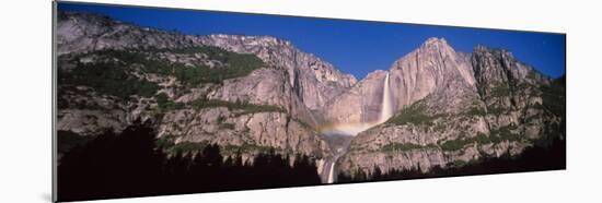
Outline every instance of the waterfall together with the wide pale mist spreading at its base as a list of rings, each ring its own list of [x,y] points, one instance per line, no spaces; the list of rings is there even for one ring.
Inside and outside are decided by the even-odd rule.
[[[346,122],[332,124],[329,127],[322,128],[321,133],[327,138],[331,143],[331,148],[334,152],[334,157],[331,160],[327,160],[323,169],[323,181],[326,183],[335,182],[335,167],[337,159],[347,152],[351,138],[358,133],[366,131],[374,126],[386,122],[393,116],[393,107],[391,105],[391,93],[389,86],[389,72],[384,77],[383,82],[383,94],[381,103],[381,111],[379,114],[379,119],[372,122]]]

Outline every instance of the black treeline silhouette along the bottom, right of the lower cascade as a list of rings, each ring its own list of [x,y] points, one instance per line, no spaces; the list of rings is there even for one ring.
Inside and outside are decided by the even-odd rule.
[[[555,138],[543,145],[528,147],[518,156],[510,156],[506,153],[500,157],[484,157],[462,166],[453,166],[453,164],[450,164],[444,168],[436,166],[428,172],[422,172],[420,168],[382,171],[380,168],[374,167],[372,174],[367,174],[363,170],[358,169],[354,171],[352,176],[340,172],[337,176],[337,181],[348,183],[380,180],[407,180],[419,178],[557,170],[565,168],[566,141]]]

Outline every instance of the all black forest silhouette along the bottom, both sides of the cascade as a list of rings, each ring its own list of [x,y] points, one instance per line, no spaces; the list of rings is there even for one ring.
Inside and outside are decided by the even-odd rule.
[[[59,135],[60,136],[60,135]],[[58,166],[58,200],[97,200],[198,192],[266,189],[320,184],[315,163],[297,155],[294,163],[270,150],[255,156],[253,164],[239,155],[223,157],[216,144],[202,151],[167,155],[157,146],[151,127],[135,124],[120,134],[107,131],[72,146]],[[566,141],[553,139],[525,148],[518,156],[484,157],[463,166],[420,168],[372,174],[340,172],[338,183],[418,178],[489,175],[564,169]]]

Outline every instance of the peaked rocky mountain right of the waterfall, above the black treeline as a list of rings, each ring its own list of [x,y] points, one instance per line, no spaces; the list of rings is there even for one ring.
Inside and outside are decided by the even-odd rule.
[[[390,74],[396,116],[359,133],[338,171],[428,171],[516,155],[560,122],[542,106],[542,87],[551,80],[506,50],[459,53],[430,38],[395,61]]]

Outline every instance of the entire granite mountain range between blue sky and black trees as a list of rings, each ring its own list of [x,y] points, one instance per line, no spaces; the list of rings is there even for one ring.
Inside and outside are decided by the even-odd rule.
[[[463,53],[429,38],[357,82],[270,36],[193,36],[58,15],[59,131],[96,135],[149,121],[160,139],[217,143],[227,155],[269,147],[310,155],[324,180],[333,169],[453,167],[564,135],[556,98],[564,92],[553,92],[564,85],[502,49]],[[321,131],[380,120],[385,79],[393,118],[352,139]]]

